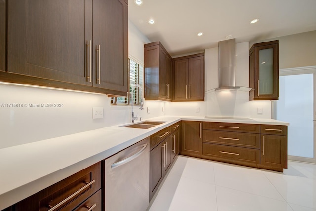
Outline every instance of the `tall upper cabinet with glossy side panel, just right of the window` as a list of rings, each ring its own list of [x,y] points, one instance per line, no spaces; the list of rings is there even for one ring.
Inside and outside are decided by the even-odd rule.
[[[160,42],[144,47],[145,99],[171,101],[171,56]]]

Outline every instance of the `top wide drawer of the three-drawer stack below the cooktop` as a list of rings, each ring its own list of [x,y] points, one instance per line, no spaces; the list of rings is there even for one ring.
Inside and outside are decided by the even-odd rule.
[[[233,132],[259,133],[260,125],[243,124],[243,123],[203,122],[203,129],[233,131]]]

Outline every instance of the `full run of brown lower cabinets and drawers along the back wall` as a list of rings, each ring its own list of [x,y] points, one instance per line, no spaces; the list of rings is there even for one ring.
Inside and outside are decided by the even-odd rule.
[[[182,121],[181,131],[181,155],[280,172],[287,168],[287,126]]]

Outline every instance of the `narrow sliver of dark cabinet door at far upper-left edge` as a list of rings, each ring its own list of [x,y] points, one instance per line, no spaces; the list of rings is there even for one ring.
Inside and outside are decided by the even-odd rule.
[[[5,0],[0,1],[0,71],[5,71]]]

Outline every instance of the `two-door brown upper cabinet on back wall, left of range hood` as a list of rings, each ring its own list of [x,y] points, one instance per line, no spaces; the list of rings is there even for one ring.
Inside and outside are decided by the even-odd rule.
[[[204,53],[173,60],[173,101],[203,101]]]

